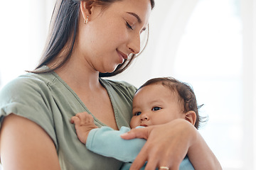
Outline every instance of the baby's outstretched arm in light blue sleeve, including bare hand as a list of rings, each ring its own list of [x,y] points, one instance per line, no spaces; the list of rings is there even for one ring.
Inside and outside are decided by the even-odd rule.
[[[107,126],[97,128],[92,115],[88,113],[78,113],[71,118],[71,123],[75,124],[78,139],[86,143],[87,149],[122,162],[132,162],[146,142],[144,139],[123,140],[120,135],[130,130],[127,127],[120,130]]]

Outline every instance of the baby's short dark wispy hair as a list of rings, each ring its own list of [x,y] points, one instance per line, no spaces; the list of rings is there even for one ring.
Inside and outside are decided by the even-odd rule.
[[[168,87],[172,92],[177,93],[179,100],[183,103],[183,112],[186,113],[188,111],[194,111],[196,113],[196,129],[199,128],[199,124],[201,122],[206,122],[206,120],[204,120],[205,118],[199,116],[198,109],[203,105],[197,105],[196,95],[194,94],[191,86],[184,82],[178,81],[173,77],[160,77],[149,79],[146,81],[146,83],[140,86],[139,89],[142,89],[144,86],[149,86],[151,84],[162,84],[163,86]]]

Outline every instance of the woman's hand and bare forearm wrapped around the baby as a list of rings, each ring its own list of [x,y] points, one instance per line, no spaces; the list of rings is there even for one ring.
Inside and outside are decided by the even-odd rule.
[[[131,169],[139,169],[147,161],[145,170],[154,170],[159,166],[178,170],[187,153],[197,170],[222,169],[198,130],[183,119],[173,120],[164,125],[133,129],[122,137],[124,139],[139,137],[147,140]]]

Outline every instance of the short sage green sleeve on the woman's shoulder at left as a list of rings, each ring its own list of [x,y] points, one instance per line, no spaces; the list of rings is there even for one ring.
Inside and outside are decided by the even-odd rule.
[[[18,77],[0,91],[0,126],[4,117],[11,113],[28,118],[46,130],[57,147],[50,108],[52,101],[50,89],[44,81],[26,75]]]

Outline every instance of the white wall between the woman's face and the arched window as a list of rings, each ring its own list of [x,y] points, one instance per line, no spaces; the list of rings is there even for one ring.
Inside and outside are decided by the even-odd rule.
[[[150,78],[170,76],[178,42],[197,1],[156,1],[149,20],[149,43],[132,67],[117,76],[118,79],[140,86]],[[164,58],[166,55],[168,61]]]

